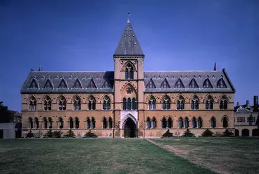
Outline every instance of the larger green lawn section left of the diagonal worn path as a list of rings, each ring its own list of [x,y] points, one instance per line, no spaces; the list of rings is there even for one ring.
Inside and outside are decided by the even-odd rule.
[[[0,141],[0,173],[212,173],[144,139]]]

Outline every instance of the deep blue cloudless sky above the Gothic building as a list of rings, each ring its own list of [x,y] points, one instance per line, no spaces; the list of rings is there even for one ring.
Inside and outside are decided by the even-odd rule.
[[[235,103],[259,95],[259,1],[0,1],[0,100],[21,110],[31,68],[113,70],[127,13],[144,70],[226,68]],[[98,63],[98,65],[97,65]]]

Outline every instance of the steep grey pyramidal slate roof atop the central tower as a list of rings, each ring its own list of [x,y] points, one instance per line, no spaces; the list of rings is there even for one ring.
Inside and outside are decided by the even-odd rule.
[[[136,34],[132,29],[132,24],[130,24],[130,19],[127,20],[127,25],[113,56],[144,56]]]

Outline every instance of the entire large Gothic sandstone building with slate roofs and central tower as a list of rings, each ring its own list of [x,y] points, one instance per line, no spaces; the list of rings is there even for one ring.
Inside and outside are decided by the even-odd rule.
[[[161,137],[189,127],[198,136],[234,128],[235,88],[226,70],[144,72],[144,59],[128,20],[114,72],[32,70],[21,90],[23,135],[72,128],[78,135]]]

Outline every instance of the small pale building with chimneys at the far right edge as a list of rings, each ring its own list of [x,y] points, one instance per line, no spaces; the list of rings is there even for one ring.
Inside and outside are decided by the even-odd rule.
[[[234,113],[235,136],[259,136],[259,105],[258,96],[253,97],[253,106],[249,100],[240,105],[237,102]]]

